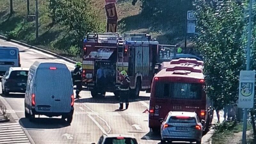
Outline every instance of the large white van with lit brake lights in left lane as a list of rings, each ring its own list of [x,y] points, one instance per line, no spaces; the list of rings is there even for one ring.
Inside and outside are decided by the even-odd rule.
[[[72,122],[74,94],[71,73],[64,63],[38,62],[29,69],[25,117],[61,116]]]

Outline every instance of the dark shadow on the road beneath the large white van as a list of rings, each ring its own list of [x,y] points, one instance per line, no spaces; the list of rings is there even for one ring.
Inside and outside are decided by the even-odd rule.
[[[28,118],[21,118],[19,120],[20,125],[26,129],[58,129],[67,127],[68,124],[65,120],[60,118],[35,118],[33,122],[30,122]]]

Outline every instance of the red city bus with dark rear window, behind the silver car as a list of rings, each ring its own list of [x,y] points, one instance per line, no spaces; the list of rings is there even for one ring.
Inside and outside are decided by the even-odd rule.
[[[169,111],[196,112],[204,129],[212,122],[212,102],[204,91],[200,65],[177,70],[179,67],[164,68],[153,79],[149,103],[149,128],[153,131],[160,128],[159,119]]]

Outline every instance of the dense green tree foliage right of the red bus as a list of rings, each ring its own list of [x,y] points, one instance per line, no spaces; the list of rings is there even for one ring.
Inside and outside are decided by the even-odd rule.
[[[220,109],[238,98],[245,63],[244,6],[233,0],[195,0],[195,5],[195,45],[204,58],[206,92]]]

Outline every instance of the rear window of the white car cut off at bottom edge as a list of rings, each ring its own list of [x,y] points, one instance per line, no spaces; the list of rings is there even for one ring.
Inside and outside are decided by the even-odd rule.
[[[132,138],[116,137],[106,138],[104,144],[138,144],[136,140]]]

